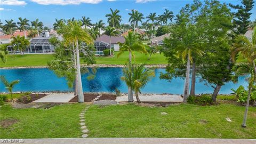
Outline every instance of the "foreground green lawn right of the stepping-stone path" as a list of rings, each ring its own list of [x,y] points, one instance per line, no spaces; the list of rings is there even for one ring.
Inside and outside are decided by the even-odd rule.
[[[245,107],[221,104],[169,107],[94,106],[85,113],[89,137],[256,138],[256,108],[250,107],[247,128],[242,128]],[[166,112],[167,115],[161,115]],[[232,122],[227,122],[225,118]]]

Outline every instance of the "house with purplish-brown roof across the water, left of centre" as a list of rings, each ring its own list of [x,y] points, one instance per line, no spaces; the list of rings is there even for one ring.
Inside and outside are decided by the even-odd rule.
[[[125,39],[123,36],[111,36],[111,48],[115,51],[119,51],[119,43],[124,43]],[[97,51],[97,54],[101,54],[103,50],[110,48],[110,41],[108,35],[101,35],[94,41],[94,47]]]

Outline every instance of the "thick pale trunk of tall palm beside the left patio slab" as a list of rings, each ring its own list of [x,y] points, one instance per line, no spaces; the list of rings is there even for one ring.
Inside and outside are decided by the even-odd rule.
[[[78,102],[84,102],[82,78],[81,78],[81,71],[80,71],[79,46],[78,46],[78,41],[77,40],[76,40],[76,64],[77,64],[77,94],[78,94]]]

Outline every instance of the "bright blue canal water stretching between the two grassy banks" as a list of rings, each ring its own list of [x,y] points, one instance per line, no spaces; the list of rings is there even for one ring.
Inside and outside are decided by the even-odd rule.
[[[142,93],[172,93],[182,94],[185,80],[175,78],[171,82],[159,79],[160,72],[165,73],[165,69],[155,69],[156,76],[142,89]],[[20,79],[20,83],[14,86],[13,91],[72,91],[67,86],[64,77],[57,77],[53,71],[47,68],[25,68],[25,69],[0,69],[1,75],[5,75],[8,81]],[[121,92],[127,92],[127,86],[120,77],[122,76],[122,68],[99,68],[96,77],[87,81],[87,75],[82,75],[84,92],[114,92],[117,88]],[[221,87],[220,93],[229,94],[231,88],[237,89],[239,85],[247,86],[247,82],[243,77],[239,78],[239,82],[234,84],[227,83]],[[1,82],[1,92],[7,92],[5,86]],[[212,93],[213,88],[199,82],[196,79],[196,93]]]

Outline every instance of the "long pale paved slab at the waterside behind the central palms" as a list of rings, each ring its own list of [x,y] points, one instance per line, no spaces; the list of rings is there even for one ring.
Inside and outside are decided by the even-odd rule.
[[[142,102],[182,102],[183,98],[180,95],[139,95]],[[136,98],[133,97],[134,101]],[[116,97],[117,102],[127,102],[128,96]]]

